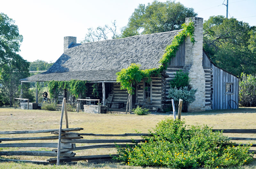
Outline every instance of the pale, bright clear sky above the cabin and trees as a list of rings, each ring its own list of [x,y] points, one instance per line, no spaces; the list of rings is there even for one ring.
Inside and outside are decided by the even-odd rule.
[[[161,2],[165,2],[159,0]],[[63,53],[63,38],[84,39],[87,29],[111,25],[118,32],[139,4],[153,0],[0,0],[0,12],[15,20],[23,36],[19,54],[28,61],[55,62]],[[227,0],[176,0],[194,8],[197,17],[226,16]],[[228,0],[228,18],[256,25],[256,0]]]

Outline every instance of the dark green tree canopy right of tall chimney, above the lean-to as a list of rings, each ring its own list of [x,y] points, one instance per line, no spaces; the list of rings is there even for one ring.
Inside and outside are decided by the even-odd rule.
[[[204,21],[203,30],[204,49],[217,66],[235,75],[256,71],[255,30],[248,23],[212,16]]]

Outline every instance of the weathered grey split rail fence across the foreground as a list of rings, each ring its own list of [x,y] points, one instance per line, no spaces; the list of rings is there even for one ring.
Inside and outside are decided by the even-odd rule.
[[[0,147],[50,147],[55,148],[52,151],[0,151],[0,156],[47,156],[53,157],[47,159],[47,161],[29,161],[29,160],[14,160],[14,159],[0,159],[0,161],[23,161],[32,162],[37,164],[50,164],[57,163],[60,165],[65,162],[73,162],[86,160],[87,162],[104,162],[112,159],[112,155],[87,155],[87,156],[75,156],[73,151],[86,150],[86,149],[98,149],[98,148],[115,148],[116,144],[120,147],[126,147],[128,143],[130,146],[134,146],[135,143],[144,142],[143,139],[83,139],[82,136],[94,136],[94,137],[128,137],[128,136],[149,136],[147,133],[125,133],[125,134],[93,134],[93,133],[77,133],[74,131],[83,130],[83,128],[68,128],[68,116],[65,106],[65,98],[62,103],[62,111],[60,118],[60,129],[47,129],[47,130],[22,130],[22,131],[0,131],[0,135],[6,134],[28,134],[28,133],[48,133],[51,132],[55,136],[48,137],[19,137],[19,138],[0,138]],[[62,129],[62,119],[66,116],[66,129]],[[220,130],[213,130],[220,131]],[[256,134],[256,129],[224,129],[223,133],[253,133]],[[256,140],[249,137],[229,137],[231,140]],[[20,141],[20,140],[53,140],[58,139],[58,143],[5,143],[8,141]],[[1,143],[2,142],[2,143]],[[76,144],[94,144],[85,146],[76,146]],[[120,144],[122,143],[122,144]],[[239,144],[235,144],[238,146]],[[243,144],[240,144],[243,145]],[[256,147],[256,144],[252,144],[252,147]],[[252,152],[253,150],[250,150]],[[254,150],[255,151],[255,150]]]

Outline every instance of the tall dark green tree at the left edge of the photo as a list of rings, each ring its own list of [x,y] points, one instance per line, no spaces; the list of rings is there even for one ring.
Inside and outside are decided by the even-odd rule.
[[[29,76],[29,62],[18,52],[23,40],[18,26],[6,14],[0,13],[0,104],[12,105],[12,98],[18,97],[20,79]],[[26,92],[26,90],[24,90]]]

